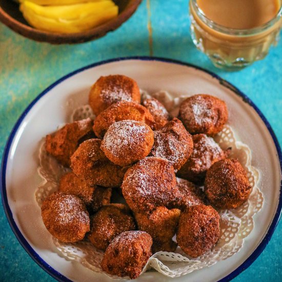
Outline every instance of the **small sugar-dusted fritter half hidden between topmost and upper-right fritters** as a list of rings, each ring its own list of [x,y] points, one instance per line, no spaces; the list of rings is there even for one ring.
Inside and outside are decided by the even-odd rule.
[[[147,108],[154,117],[156,129],[164,127],[171,119],[171,116],[165,106],[155,98],[145,99],[142,102],[142,105]]]

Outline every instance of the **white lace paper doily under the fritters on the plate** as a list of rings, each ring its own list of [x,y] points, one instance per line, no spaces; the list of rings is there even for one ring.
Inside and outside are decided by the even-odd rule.
[[[150,97],[145,91],[142,91],[142,96],[143,98]],[[160,100],[172,116],[178,115],[178,106],[185,98],[173,98],[166,91],[154,93],[152,96]],[[95,117],[88,105],[74,109],[70,122],[86,117]],[[177,247],[175,253],[157,252],[150,257],[142,273],[154,269],[166,276],[178,277],[209,267],[217,261],[224,260],[237,253],[243,247],[244,239],[252,232],[254,228],[253,216],[261,209],[264,198],[257,186],[259,172],[251,165],[251,150],[246,144],[238,140],[230,125],[225,125],[224,129],[214,139],[222,149],[232,147],[230,157],[236,157],[247,171],[252,186],[249,199],[237,209],[218,210],[220,215],[220,237],[217,244],[210,251],[196,259],[190,259],[179,247]],[[59,179],[68,171],[46,153],[44,140],[42,140],[40,148],[38,174],[43,178],[43,182],[35,191],[36,202],[39,206],[48,195],[58,188]],[[53,242],[58,254],[65,259],[77,261],[95,272],[103,272],[100,268],[103,252],[97,250],[89,241],[83,240],[73,244],[66,244],[53,237]],[[113,279],[128,279],[128,277],[120,278],[109,274],[106,275]]]

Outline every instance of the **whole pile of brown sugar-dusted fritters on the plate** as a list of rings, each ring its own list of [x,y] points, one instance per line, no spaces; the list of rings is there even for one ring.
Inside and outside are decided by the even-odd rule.
[[[172,118],[158,100],[142,101],[133,79],[109,75],[92,86],[89,104],[94,122],[46,137],[47,152],[72,170],[42,205],[48,231],[64,242],[88,239],[105,252],[102,269],[120,277],[138,277],[152,252],[211,249],[220,231],[214,208],[234,209],[251,192],[243,167],[212,138],[227,122],[225,102],[197,94]],[[112,198],[120,190],[124,204]]]

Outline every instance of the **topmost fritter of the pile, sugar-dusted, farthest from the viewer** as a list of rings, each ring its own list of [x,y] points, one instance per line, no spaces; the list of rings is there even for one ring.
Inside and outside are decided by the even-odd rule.
[[[91,87],[89,105],[95,115],[122,100],[140,103],[137,83],[125,75],[101,76]]]

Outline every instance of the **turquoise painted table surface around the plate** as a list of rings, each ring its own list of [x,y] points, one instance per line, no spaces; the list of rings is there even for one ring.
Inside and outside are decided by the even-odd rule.
[[[282,144],[282,41],[263,61],[238,72],[225,72],[213,67],[209,59],[196,50],[189,26],[188,2],[184,0],[144,0],[122,27],[96,41],[78,45],[36,43],[0,24],[1,157],[19,115],[55,80],[91,63],[137,55],[178,59],[227,79],[265,114]],[[3,207],[0,226],[0,280],[53,280],[18,243]],[[263,253],[234,281],[282,281],[281,235],[280,222]]]

